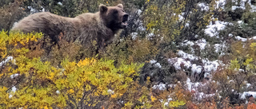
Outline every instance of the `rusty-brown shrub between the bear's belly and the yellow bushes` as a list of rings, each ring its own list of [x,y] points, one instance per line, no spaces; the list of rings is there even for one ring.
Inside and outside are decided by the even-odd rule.
[[[47,46],[42,47],[42,49],[46,49],[46,51],[48,51],[48,53],[44,53],[42,58],[50,61],[50,63],[54,66],[60,66],[62,60],[64,59],[78,62],[86,57],[96,57],[97,55],[96,45],[91,45],[90,47],[83,46],[76,42],[65,41],[62,38],[60,38],[56,44],[46,41],[46,39],[42,41],[45,44],[42,44],[41,46]]]

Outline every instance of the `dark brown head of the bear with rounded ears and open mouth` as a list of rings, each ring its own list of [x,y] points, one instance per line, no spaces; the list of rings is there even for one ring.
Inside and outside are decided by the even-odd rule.
[[[122,4],[118,6],[100,5],[99,12],[106,27],[114,31],[126,28],[129,15],[123,10]]]

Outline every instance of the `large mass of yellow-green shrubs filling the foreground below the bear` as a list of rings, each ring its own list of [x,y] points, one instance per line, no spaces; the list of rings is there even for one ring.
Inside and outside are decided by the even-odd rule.
[[[28,48],[41,40],[42,33],[2,31],[0,36],[1,108],[173,108],[190,100],[181,86],[161,91],[152,88],[150,78],[139,84],[143,64],[116,66],[114,60],[103,58],[65,58],[54,67]],[[12,60],[6,60],[10,56]]]

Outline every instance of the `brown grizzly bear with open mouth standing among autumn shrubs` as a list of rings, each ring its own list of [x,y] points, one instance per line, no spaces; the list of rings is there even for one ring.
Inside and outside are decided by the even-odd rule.
[[[41,12],[23,18],[12,30],[23,33],[42,32],[52,41],[62,39],[69,42],[78,42],[84,46],[97,42],[99,48],[106,46],[114,39],[114,34],[126,28],[128,14],[122,4],[118,6],[99,6],[99,12],[80,14],[75,18],[66,18]]]

